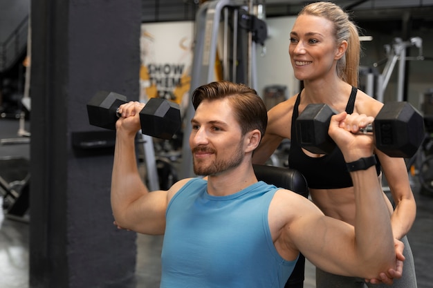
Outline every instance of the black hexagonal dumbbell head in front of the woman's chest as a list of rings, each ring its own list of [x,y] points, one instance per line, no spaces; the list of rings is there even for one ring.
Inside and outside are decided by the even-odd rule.
[[[308,104],[296,119],[297,142],[302,148],[315,154],[329,154],[335,142],[328,134],[329,122],[336,114],[326,104]]]

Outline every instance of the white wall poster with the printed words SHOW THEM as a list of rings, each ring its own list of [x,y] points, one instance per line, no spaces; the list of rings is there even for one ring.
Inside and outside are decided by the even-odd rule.
[[[162,97],[181,107],[187,103],[193,40],[192,21],[142,24],[140,99]]]

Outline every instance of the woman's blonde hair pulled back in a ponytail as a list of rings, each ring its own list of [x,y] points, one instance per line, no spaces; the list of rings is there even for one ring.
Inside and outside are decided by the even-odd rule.
[[[350,19],[347,12],[331,2],[315,2],[305,6],[298,14],[324,17],[334,24],[335,42],[337,45],[347,41],[347,50],[337,61],[337,75],[343,81],[358,86],[358,69],[360,63],[360,38],[358,26]]]

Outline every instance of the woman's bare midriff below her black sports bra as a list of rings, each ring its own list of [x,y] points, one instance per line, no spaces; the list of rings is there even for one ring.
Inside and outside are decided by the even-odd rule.
[[[311,200],[313,200],[314,204],[316,204],[325,215],[352,225],[354,224],[355,194],[353,187],[340,189],[310,189],[310,195]],[[383,193],[383,197],[391,212],[391,202],[385,193]]]

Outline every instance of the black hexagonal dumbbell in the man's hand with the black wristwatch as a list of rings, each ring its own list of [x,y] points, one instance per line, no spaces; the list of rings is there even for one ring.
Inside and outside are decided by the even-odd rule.
[[[326,104],[309,104],[296,119],[296,137],[302,148],[315,154],[330,154],[335,148],[328,134],[331,116]],[[408,102],[385,104],[363,133],[372,132],[376,148],[389,157],[412,157],[423,142],[424,120]]]

